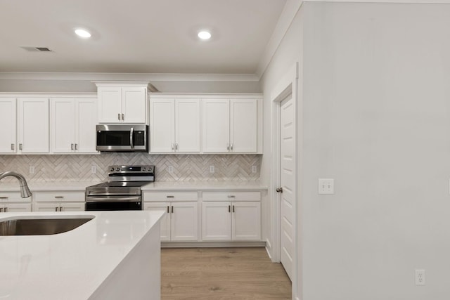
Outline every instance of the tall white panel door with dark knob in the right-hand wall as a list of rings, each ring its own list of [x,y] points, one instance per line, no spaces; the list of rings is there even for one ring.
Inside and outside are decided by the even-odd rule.
[[[295,128],[293,100],[288,98],[281,103],[281,263],[292,278],[295,251],[294,190],[294,149]]]

